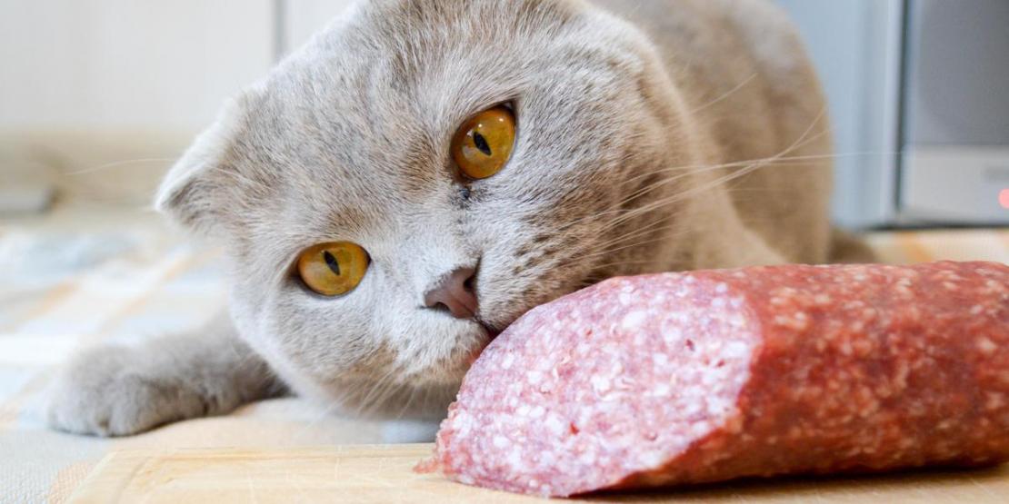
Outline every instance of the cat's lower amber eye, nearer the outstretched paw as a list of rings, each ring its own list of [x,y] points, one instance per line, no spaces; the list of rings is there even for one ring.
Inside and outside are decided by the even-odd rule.
[[[357,288],[368,270],[368,253],[348,242],[316,245],[298,258],[298,273],[310,289],[325,296]]]

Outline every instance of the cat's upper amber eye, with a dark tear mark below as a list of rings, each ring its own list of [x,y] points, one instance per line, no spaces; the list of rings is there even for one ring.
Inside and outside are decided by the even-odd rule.
[[[508,164],[515,148],[515,114],[494,107],[466,121],[452,140],[452,157],[468,178],[489,178]]]

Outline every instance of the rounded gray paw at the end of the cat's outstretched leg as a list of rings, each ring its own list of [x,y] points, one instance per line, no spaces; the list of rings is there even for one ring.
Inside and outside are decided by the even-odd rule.
[[[195,391],[151,367],[137,349],[103,347],[77,356],[49,389],[46,420],[68,432],[120,436],[206,411]]]

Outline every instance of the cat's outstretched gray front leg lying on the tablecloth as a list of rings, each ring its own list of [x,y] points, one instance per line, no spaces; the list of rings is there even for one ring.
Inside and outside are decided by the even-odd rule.
[[[199,333],[81,353],[49,389],[46,419],[69,432],[129,435],[282,392],[222,317]]]

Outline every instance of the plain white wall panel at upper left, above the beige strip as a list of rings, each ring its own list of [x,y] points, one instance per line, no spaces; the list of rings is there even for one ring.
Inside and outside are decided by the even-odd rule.
[[[271,0],[0,0],[0,128],[197,131],[273,28]]]

